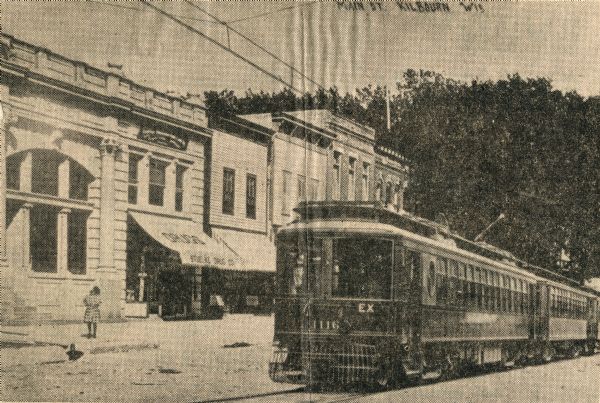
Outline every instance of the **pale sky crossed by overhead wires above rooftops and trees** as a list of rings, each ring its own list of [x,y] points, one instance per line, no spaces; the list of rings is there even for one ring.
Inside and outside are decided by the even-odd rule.
[[[446,3],[156,1],[152,5],[227,46],[208,11],[297,71],[229,32],[231,49],[303,90],[393,85],[409,68],[462,81],[509,74],[600,95],[600,0]],[[381,4],[381,6],[379,5]],[[436,5],[437,4],[437,5]],[[194,5],[196,7],[194,7]],[[435,6],[435,7],[434,7]],[[421,11],[419,12],[419,9]],[[446,11],[449,10],[449,11]],[[137,1],[0,0],[2,31],[161,91],[276,91],[283,84]],[[238,21],[239,20],[239,21]]]

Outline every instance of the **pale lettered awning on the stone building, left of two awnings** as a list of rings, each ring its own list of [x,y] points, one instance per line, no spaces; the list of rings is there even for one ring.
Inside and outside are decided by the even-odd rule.
[[[181,264],[240,270],[242,259],[190,220],[130,211],[129,215],[146,233],[179,254]]]

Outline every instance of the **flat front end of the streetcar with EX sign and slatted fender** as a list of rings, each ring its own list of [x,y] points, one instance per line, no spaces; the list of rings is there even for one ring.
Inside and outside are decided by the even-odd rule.
[[[281,231],[277,245],[271,379],[377,382],[390,349],[400,348],[392,239],[297,226]]]

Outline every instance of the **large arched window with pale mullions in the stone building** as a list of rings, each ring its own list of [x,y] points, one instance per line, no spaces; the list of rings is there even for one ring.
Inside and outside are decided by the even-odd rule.
[[[93,176],[53,150],[30,150],[7,158],[9,254],[36,272],[85,274],[88,198]],[[20,227],[25,231],[18,231]],[[27,232],[29,235],[27,236]],[[28,239],[27,239],[28,238]]]

